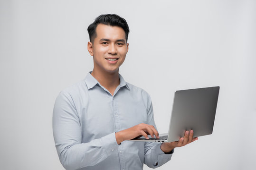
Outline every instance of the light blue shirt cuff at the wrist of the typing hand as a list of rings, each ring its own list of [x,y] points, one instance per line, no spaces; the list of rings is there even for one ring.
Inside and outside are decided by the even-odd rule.
[[[107,136],[104,136],[101,138],[103,147],[107,155],[111,155],[116,151],[118,148],[119,144],[117,144],[116,139],[115,139],[115,132],[111,133]]]

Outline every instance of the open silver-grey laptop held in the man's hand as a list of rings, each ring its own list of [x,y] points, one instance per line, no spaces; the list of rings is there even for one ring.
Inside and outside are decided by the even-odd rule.
[[[212,134],[218,102],[219,86],[179,90],[174,94],[169,132],[160,139],[144,136],[130,141],[173,142],[193,130],[194,137]],[[151,136],[149,136],[151,137]]]

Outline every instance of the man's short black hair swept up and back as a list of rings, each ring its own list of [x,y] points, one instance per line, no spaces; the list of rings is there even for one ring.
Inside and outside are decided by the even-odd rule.
[[[128,34],[130,32],[129,26],[124,18],[116,14],[103,14],[95,18],[95,21],[87,28],[90,42],[93,42],[96,37],[96,27],[98,26],[98,24],[104,24],[107,26],[119,26],[123,28],[123,31],[125,32],[125,39],[127,42]]]

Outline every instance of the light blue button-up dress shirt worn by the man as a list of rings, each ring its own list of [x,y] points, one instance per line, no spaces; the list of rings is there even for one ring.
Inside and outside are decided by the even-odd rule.
[[[160,143],[123,141],[115,132],[140,123],[155,126],[151,98],[121,75],[114,95],[90,74],[57,96],[53,135],[66,170],[142,170],[171,160]]]

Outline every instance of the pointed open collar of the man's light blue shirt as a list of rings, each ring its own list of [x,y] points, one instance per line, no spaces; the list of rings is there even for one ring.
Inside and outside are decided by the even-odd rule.
[[[97,84],[100,85],[100,83],[98,82],[98,80],[96,80],[95,77],[91,75],[91,72],[92,72],[92,71],[90,71],[90,72],[87,74],[87,76],[85,77],[85,84],[87,85],[87,88],[88,88],[88,89],[93,88],[93,87],[94,87],[95,85],[97,85]],[[121,76],[120,74],[119,74],[119,79],[120,79],[120,84],[119,84],[119,86],[120,86],[120,87],[125,86],[128,90],[130,90],[129,86],[128,86],[127,83],[124,81],[123,76]],[[100,86],[101,86],[101,85],[100,85]]]

